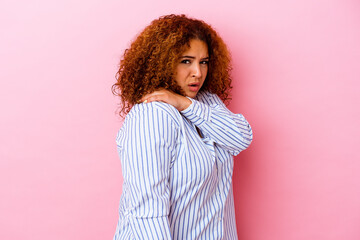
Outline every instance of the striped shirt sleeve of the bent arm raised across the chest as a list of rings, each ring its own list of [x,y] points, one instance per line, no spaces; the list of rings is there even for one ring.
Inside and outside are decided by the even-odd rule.
[[[204,137],[234,156],[250,145],[253,138],[250,124],[242,114],[227,109],[217,95],[205,93],[201,101],[189,99],[191,105],[181,113],[202,131]]]

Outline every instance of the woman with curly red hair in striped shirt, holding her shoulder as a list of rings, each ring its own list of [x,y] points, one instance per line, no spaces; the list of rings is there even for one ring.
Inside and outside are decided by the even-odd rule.
[[[217,33],[184,15],[154,20],[125,51],[113,86],[127,114],[114,239],[237,239],[233,156],[252,131],[222,102],[229,71]]]

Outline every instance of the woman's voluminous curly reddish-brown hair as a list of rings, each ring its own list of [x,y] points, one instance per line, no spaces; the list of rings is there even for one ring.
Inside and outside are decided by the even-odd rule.
[[[152,21],[125,50],[112,86],[113,94],[121,99],[120,115],[159,88],[184,95],[175,81],[175,68],[192,39],[204,41],[209,52],[208,73],[200,91],[229,100],[231,58],[224,41],[205,22],[171,14]]]

